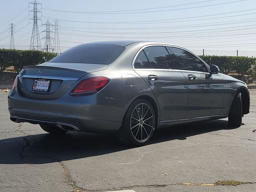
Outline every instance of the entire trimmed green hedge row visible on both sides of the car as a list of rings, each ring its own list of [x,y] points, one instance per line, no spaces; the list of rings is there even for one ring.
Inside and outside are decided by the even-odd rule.
[[[9,66],[19,72],[23,66],[38,65],[51,60],[57,54],[34,50],[0,49],[0,74]],[[217,65],[220,72],[229,74],[236,71],[241,77],[251,70],[256,70],[256,58],[243,56],[200,56],[209,65]]]

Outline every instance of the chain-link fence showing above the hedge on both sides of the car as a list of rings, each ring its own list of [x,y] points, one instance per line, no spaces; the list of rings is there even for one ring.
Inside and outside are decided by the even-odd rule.
[[[0,48],[9,49],[10,45],[0,45]],[[18,50],[29,50],[29,45],[15,45],[15,49]],[[64,52],[68,49],[72,48],[72,46],[60,46],[61,52]],[[242,50],[193,50],[190,49],[196,55],[216,55],[216,56],[246,56],[246,57],[256,57],[256,51],[242,51]],[[46,51],[42,48],[42,51]],[[50,51],[49,51],[50,52]]]

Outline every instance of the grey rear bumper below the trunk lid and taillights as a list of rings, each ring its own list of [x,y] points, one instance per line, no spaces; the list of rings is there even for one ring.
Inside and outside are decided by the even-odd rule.
[[[14,122],[63,124],[74,130],[102,133],[116,132],[125,113],[122,102],[98,93],[80,97],[65,94],[54,100],[39,100],[10,91],[8,110]]]

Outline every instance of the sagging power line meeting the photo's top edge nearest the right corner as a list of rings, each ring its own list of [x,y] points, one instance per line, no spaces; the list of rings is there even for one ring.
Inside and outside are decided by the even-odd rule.
[[[166,12],[166,11],[175,11],[175,10],[186,10],[186,9],[192,9],[192,8],[202,8],[202,7],[209,7],[209,6],[216,6],[216,5],[223,5],[223,4],[230,4],[230,3],[236,3],[236,2],[243,2],[247,0],[237,0],[232,2],[225,2],[225,3],[218,3],[218,4],[212,4],[212,5],[204,5],[204,6],[196,6],[196,7],[188,7],[188,8],[179,8],[179,9],[169,9],[169,10],[156,10],[156,11],[143,11],[143,12],[127,12],[127,13],[107,13],[107,12],[72,12],[72,11],[61,11],[61,10],[52,10],[52,9],[45,9],[50,11],[56,11],[56,12],[71,12],[71,13],[82,13],[82,14],[137,14],[137,13],[153,13],[153,12]]]

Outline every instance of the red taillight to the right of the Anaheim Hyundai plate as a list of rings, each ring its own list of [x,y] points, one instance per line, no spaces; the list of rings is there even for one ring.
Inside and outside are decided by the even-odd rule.
[[[72,96],[92,95],[101,90],[109,82],[109,78],[106,77],[92,77],[82,80],[78,85],[70,92]]]

